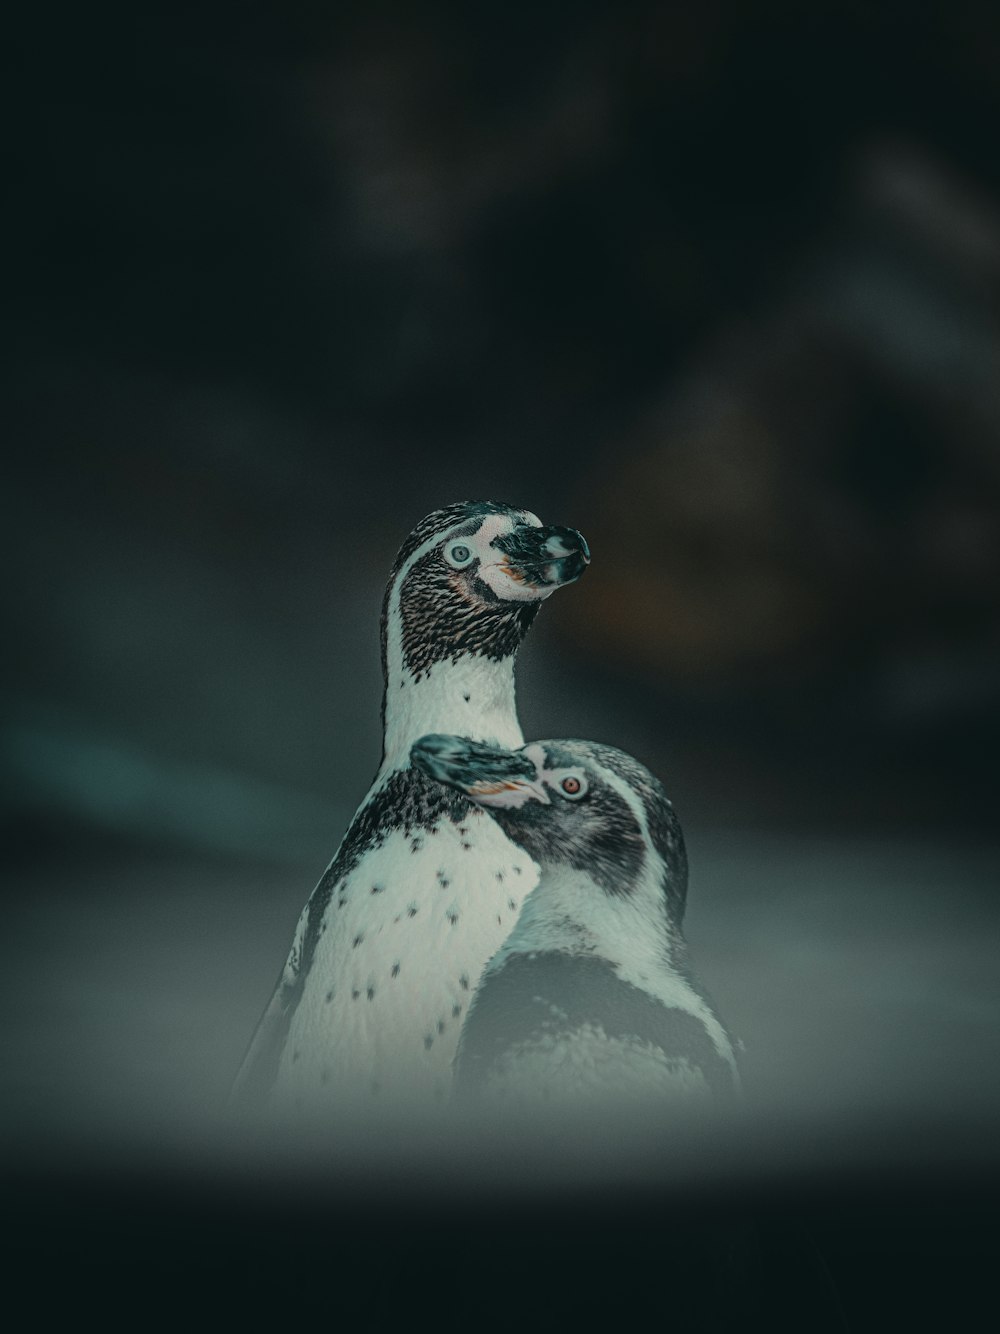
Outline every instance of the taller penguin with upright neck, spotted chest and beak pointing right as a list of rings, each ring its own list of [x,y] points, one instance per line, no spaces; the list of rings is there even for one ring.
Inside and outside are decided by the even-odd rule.
[[[411,768],[409,750],[443,728],[523,744],[517,648],[589,559],[576,530],[493,502],[437,510],[403,543],[381,611],[381,763],[303,908],[232,1107],[325,1127],[447,1098],[461,1018],[535,872],[479,806]]]

